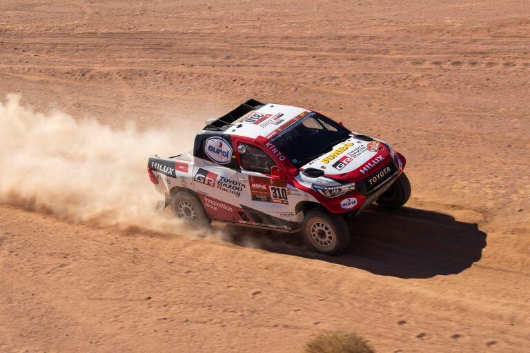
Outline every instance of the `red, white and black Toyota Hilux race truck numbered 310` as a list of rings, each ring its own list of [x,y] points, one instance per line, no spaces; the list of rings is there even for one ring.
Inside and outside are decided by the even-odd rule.
[[[302,231],[317,252],[338,254],[349,217],[411,195],[402,154],[318,112],[249,99],[207,123],[193,151],[148,161],[165,196],[157,209],[184,221]]]

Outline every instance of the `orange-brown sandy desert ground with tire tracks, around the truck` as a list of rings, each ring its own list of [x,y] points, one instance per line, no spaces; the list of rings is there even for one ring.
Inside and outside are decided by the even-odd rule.
[[[200,127],[249,97],[299,105],[395,146],[413,194],[352,219],[337,257],[3,195],[1,352],[301,352],[324,330],[377,352],[529,352],[528,1],[3,0],[9,93],[142,131]]]

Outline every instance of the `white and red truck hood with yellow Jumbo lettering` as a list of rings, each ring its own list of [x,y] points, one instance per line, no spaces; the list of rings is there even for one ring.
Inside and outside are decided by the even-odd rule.
[[[368,177],[391,158],[391,150],[385,143],[366,141],[366,137],[359,139],[354,135],[337,143],[330,152],[306,163],[300,170],[315,168],[323,170],[325,177],[357,181]]]

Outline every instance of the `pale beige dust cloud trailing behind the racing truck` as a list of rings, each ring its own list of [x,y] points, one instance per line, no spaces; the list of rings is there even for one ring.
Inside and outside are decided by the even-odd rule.
[[[188,150],[197,129],[116,129],[57,110],[35,112],[20,99],[0,101],[0,203],[76,223],[181,233],[170,212],[153,212],[161,195],[147,161]]]

